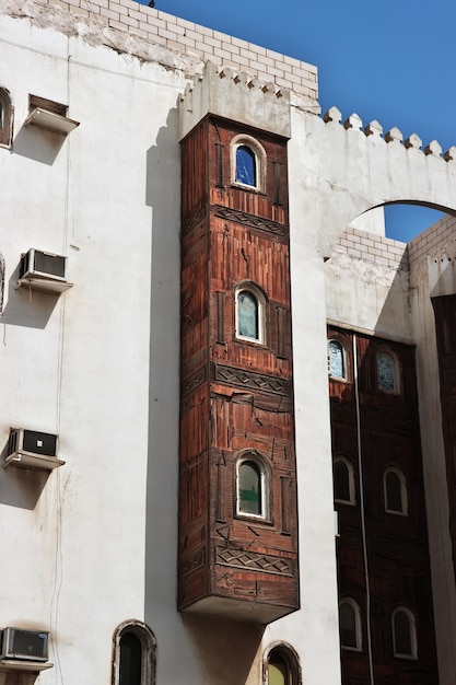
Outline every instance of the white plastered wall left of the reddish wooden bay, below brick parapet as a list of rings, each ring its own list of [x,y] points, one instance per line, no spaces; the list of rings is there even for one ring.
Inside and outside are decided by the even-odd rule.
[[[162,645],[166,612],[180,624],[175,112],[185,79],[26,21],[3,16],[0,39],[15,123],[12,152],[0,150],[0,442],[10,426],[56,432],[67,461],[48,478],[0,474],[1,624],[50,629],[56,666],[40,683],[109,683],[113,632],[127,618],[144,620],[148,581],[166,596],[165,609],[149,607]],[[23,128],[30,93],[67,103],[80,127],[66,139]],[[68,255],[73,289],[60,298],[15,290],[28,247]],[[147,500],[154,468],[159,511]],[[147,539],[151,516],[165,539]],[[149,544],[161,584],[144,570]],[[162,682],[178,682],[166,667]]]

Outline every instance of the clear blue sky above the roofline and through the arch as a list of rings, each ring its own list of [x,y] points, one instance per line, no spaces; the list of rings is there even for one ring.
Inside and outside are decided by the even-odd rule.
[[[147,2],[144,2],[147,4]],[[318,67],[319,103],[364,125],[456,144],[455,0],[155,0],[155,8]],[[410,240],[441,214],[398,206],[387,234]]]

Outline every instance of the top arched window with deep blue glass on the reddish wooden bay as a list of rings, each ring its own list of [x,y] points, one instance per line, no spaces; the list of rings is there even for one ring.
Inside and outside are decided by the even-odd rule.
[[[232,183],[254,190],[265,190],[266,152],[248,135],[235,136],[231,141]]]

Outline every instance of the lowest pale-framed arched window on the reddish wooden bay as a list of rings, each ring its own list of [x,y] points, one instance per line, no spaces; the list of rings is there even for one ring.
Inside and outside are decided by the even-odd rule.
[[[269,469],[262,458],[245,454],[236,465],[236,513],[268,519]]]

